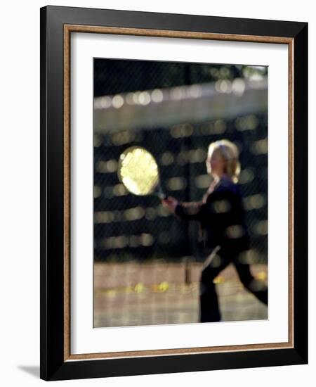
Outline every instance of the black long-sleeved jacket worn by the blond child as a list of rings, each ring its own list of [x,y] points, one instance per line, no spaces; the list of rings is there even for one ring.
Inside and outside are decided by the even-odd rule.
[[[242,196],[229,177],[213,182],[201,202],[178,203],[175,213],[180,219],[199,221],[205,247],[220,246],[228,253],[249,248]]]

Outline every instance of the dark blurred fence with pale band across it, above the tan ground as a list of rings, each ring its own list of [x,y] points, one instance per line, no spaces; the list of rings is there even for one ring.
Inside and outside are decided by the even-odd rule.
[[[129,146],[159,165],[162,188],[199,201],[209,187],[207,148],[230,139],[251,236],[250,263],[268,261],[267,68],[94,60],[94,258],[201,261],[198,224],[181,222],[155,196],[129,194],[117,176]]]

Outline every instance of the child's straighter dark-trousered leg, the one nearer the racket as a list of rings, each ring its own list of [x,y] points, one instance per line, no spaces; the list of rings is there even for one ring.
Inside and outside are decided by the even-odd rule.
[[[199,322],[218,322],[221,319],[216,285],[213,279],[231,262],[230,259],[216,254],[207,258],[199,281]]]

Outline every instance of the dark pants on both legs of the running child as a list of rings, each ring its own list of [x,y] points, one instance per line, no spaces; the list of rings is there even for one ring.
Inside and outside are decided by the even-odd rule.
[[[268,305],[268,288],[263,281],[255,279],[251,275],[249,264],[244,260],[244,254],[236,255],[216,248],[209,255],[209,258],[206,259],[200,277],[200,322],[218,322],[221,320],[216,284],[213,283],[213,279],[230,263],[235,265],[239,279],[242,281],[244,287],[251,291],[258,300]]]

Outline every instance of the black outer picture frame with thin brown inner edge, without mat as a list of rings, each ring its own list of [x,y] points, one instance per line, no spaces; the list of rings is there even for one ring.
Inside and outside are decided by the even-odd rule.
[[[226,36],[291,45],[293,341],[291,348],[72,359],[65,326],[65,34],[88,26]],[[98,32],[95,30],[93,32]],[[120,33],[120,32],[116,32]],[[133,34],[132,32],[129,32]],[[197,37],[199,39],[199,37]],[[215,39],[215,38],[214,38]],[[66,82],[65,82],[66,80]],[[67,106],[66,106],[67,107]],[[66,109],[67,110],[67,109]],[[69,146],[69,144],[68,144]],[[66,155],[67,156],[67,155]],[[69,214],[68,214],[69,215]],[[69,229],[69,224],[66,224]],[[308,363],[308,23],[46,6],[41,8],[41,367],[44,380]],[[66,310],[67,312],[67,310]],[[66,348],[66,349],[65,349]]]

